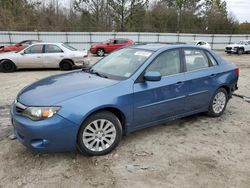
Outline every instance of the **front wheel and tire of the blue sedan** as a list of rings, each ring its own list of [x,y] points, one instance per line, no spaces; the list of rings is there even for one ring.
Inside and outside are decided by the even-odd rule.
[[[119,119],[108,111],[91,115],[81,125],[78,136],[78,149],[85,155],[105,155],[116,148],[122,137]]]

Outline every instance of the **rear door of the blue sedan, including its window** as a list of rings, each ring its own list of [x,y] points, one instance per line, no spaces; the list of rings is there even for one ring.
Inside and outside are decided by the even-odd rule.
[[[208,109],[217,82],[214,66],[211,64],[205,50],[183,49],[186,65],[186,85],[188,95],[185,111],[201,111]]]

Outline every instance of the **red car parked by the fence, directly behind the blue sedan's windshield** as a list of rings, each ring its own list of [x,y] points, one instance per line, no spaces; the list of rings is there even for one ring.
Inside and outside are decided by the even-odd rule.
[[[109,39],[104,43],[91,45],[90,52],[98,56],[104,56],[105,53],[111,53],[124,46],[130,46],[133,43],[130,39]]]

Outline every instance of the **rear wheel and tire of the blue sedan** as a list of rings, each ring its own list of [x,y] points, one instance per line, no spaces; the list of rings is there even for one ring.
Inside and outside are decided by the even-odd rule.
[[[228,92],[224,88],[219,88],[210,102],[207,114],[211,117],[221,116],[226,109],[227,103]]]

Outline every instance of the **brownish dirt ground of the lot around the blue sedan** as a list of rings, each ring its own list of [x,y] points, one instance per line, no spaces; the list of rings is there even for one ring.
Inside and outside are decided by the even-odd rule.
[[[241,68],[237,93],[250,96],[250,55],[219,53]],[[250,187],[250,103],[237,97],[220,118],[200,114],[147,128],[101,157],[39,154],[11,140],[18,91],[59,73],[0,73],[0,187]]]

